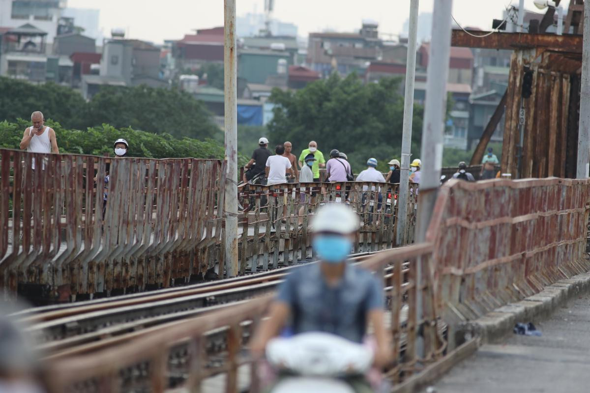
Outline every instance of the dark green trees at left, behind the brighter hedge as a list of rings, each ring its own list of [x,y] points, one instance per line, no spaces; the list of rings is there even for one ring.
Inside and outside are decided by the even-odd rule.
[[[104,87],[86,103],[71,88],[53,83],[31,85],[0,77],[0,120],[28,118],[41,110],[65,128],[132,127],[175,137],[212,138],[219,133],[211,114],[190,94],[176,89]]]

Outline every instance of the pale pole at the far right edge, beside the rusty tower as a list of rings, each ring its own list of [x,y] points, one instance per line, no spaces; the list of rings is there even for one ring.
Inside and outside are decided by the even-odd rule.
[[[582,86],[578,128],[578,166],[576,178],[588,177],[590,154],[590,0],[584,1],[584,43],[582,44]]]

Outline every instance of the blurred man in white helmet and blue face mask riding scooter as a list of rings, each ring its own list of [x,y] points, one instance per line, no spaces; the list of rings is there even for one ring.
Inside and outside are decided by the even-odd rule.
[[[330,203],[318,210],[312,222],[312,246],[320,261],[295,269],[281,283],[270,318],[251,344],[254,356],[261,356],[283,328],[294,334],[332,333],[360,343],[371,324],[374,364],[388,364],[391,346],[383,321],[382,287],[371,272],[347,262],[358,229],[358,217],[345,204]],[[365,391],[357,387],[355,381],[355,390]]]

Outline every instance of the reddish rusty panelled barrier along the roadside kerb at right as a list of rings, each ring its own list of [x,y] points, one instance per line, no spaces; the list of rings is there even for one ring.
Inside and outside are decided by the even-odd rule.
[[[428,232],[447,322],[478,318],[587,272],[590,181],[453,182]]]

